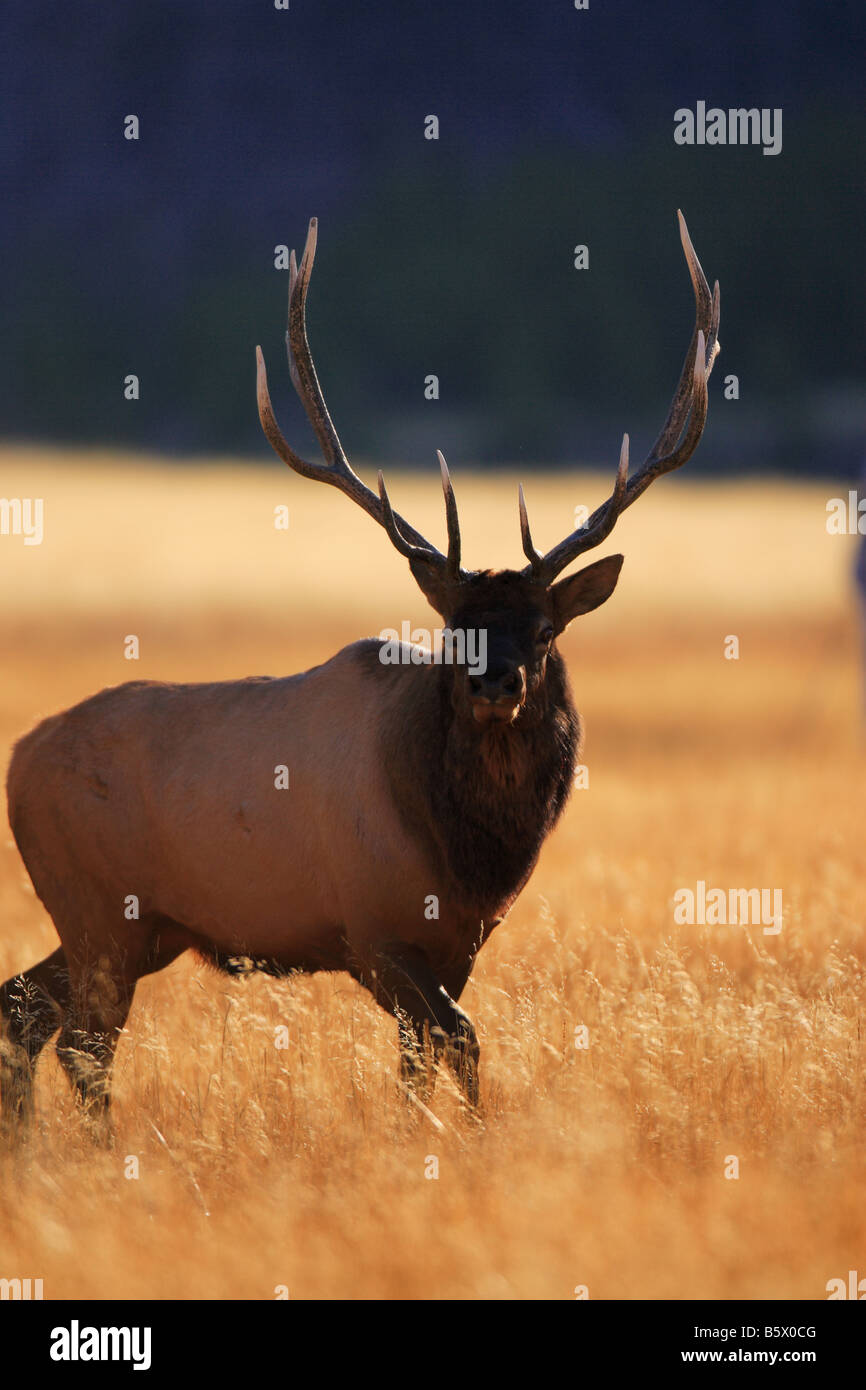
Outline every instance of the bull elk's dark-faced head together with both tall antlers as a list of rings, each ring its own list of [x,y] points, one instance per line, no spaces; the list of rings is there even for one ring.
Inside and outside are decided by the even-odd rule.
[[[460,564],[460,524],[450,477],[439,453],[448,550],[443,555],[391,506],[382,474],[378,496],[352,470],[318,384],[306,329],[306,297],[316,257],[317,220],[310,220],[300,265],[291,256],[289,373],[322,450],[324,463],[307,463],[286,443],[277,424],[261,349],[257,357],[257,398],[261,428],[275,453],[303,477],[329,482],[345,492],[386,531],[395,549],[409,560],[421,592],[453,634],[484,631],[484,670],[461,662],[452,703],[475,724],[493,730],[518,720],[544,703],[544,685],[553,644],[569,623],[603,603],[616,587],[621,555],[607,556],[567,578],[562,571],[585,550],[607,538],[617,517],[655,478],[681,467],[694,453],[706,421],[706,384],[719,352],[719,285],[710,295],[691,243],[685,220],[677,213],[680,238],[695,292],[695,327],[667,418],[641,467],[630,477],[628,435],[623,436],[613,492],[589,520],[546,553],[535,549],[523,495],[518,492],[520,531],[528,564],[517,570],[467,571]]]

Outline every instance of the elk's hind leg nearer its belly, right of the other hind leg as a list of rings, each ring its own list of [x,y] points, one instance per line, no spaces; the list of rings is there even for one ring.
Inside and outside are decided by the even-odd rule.
[[[111,1065],[129,1016],[139,977],[128,959],[108,954],[72,962],[71,1002],[57,1040],[57,1056],[72,1083],[93,1137],[110,1143]]]

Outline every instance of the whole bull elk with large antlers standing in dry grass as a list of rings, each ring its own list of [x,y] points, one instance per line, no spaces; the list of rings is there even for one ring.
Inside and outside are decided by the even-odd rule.
[[[580,721],[556,638],[610,596],[623,557],[557,575],[689,457],[706,418],[719,288],[710,295],[681,215],[680,232],[695,328],[646,461],[628,475],[626,436],[607,502],[546,555],[521,489],[527,566],[467,571],[441,456],[445,555],[392,510],[381,474],[377,496],[346,460],[306,334],[310,222],[300,267],[292,256],[286,341],[325,463],[284,439],[257,350],[261,425],[293,470],[339,488],[384,527],[446,630],[484,634],[487,664],[386,664],[382,642],[368,639],[288,678],[132,681],[22,738],[8,770],[10,824],[61,945],[0,988],[7,1123],[28,1115],[33,1065],[58,1027],[58,1056],[104,1120],[136,981],[186,949],[231,973],[348,970],[398,1019],[406,1083],[430,1087],[432,1047],[477,1101],[478,1044],[457,1001],[573,781]],[[275,787],[279,764],[288,791]],[[131,897],[138,917],[125,913]]]

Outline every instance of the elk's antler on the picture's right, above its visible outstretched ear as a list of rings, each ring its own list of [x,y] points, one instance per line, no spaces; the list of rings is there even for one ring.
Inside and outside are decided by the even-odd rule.
[[[596,507],[582,527],[573,531],[571,535],[560,541],[559,545],[555,545],[546,555],[542,555],[532,545],[525,500],[523,488],[520,488],[520,534],[523,537],[524,555],[530,562],[523,573],[542,584],[552,584],[560,570],[564,570],[571,560],[575,560],[584,550],[591,550],[594,546],[601,545],[610,531],[613,531],[620,513],[626,507],[630,507],[632,502],[637,502],[651,482],[663,473],[680,468],[687,459],[691,459],[703,432],[708,406],[706,384],[720,350],[719,281],[716,281],[713,293],[710,295],[701,261],[695,254],[695,247],[688,235],[685,218],[680,210],[677,210],[677,217],[680,220],[680,240],[683,242],[688,272],[695,291],[695,328],[688,352],[685,353],[680,381],[670,403],[670,410],[667,411],[667,420],[649,455],[632,478],[628,477],[628,435],[623,435],[620,466],[613,492],[607,498],[607,502]],[[685,428],[687,420],[688,428]],[[683,432],[684,430],[685,434]]]

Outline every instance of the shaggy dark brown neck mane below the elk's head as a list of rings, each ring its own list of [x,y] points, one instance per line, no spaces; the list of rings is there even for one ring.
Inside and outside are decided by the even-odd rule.
[[[556,824],[574,777],[581,727],[556,651],[545,681],[514,724],[478,730],[452,702],[453,667],[382,666],[388,671],[382,763],[395,805],[480,917],[514,901]]]

